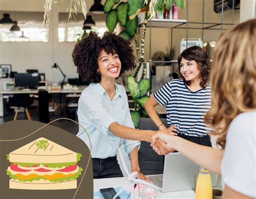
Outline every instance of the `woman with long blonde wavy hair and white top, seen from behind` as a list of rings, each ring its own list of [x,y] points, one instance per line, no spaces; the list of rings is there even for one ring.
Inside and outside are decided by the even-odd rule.
[[[225,31],[215,46],[211,70],[212,108],[205,122],[218,136],[222,150],[157,133],[165,151],[177,150],[222,175],[223,198],[256,197],[256,19]],[[163,151],[153,145],[158,154]]]

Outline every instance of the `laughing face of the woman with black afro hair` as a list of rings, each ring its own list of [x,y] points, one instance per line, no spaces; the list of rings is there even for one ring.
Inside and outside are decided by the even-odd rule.
[[[121,71],[121,61],[118,54],[107,54],[104,50],[99,53],[98,72],[101,80],[116,79]]]

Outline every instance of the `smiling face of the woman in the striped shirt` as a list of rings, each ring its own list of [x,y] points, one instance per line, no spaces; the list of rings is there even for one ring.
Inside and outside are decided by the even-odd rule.
[[[183,75],[186,81],[199,81],[200,82],[200,70],[195,60],[185,60],[184,58],[180,61],[180,73]]]

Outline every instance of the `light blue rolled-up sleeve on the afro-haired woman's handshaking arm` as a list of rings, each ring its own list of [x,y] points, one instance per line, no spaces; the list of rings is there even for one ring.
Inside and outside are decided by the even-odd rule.
[[[84,118],[85,122],[107,135],[110,124],[117,122],[117,120],[107,112],[102,103],[98,102],[92,94],[86,93],[80,99],[80,111],[86,116]]]

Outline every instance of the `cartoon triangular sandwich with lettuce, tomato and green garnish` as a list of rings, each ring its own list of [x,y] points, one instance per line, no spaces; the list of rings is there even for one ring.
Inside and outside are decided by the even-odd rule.
[[[77,166],[82,155],[46,138],[38,138],[9,155],[10,189],[76,189],[83,168]]]

